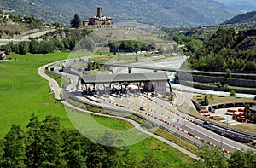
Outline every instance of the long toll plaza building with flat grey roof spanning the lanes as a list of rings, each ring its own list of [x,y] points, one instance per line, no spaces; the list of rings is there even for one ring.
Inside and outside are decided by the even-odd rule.
[[[87,91],[93,88],[96,95],[100,92],[109,95],[114,89],[113,86],[119,86],[119,92],[124,93],[126,92],[124,85],[129,84],[137,84],[138,92],[154,92],[164,96],[167,94],[166,84],[168,84],[170,93],[172,92],[170,79],[166,73],[82,75],[81,84],[85,86]],[[98,88],[102,88],[102,90],[98,90]]]

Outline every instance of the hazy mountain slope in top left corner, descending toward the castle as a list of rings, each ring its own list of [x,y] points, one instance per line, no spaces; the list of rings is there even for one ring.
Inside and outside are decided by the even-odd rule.
[[[41,0],[0,0],[0,9],[20,14],[20,16],[33,16],[37,20],[47,22],[65,22],[68,20],[65,14],[57,12]]]

